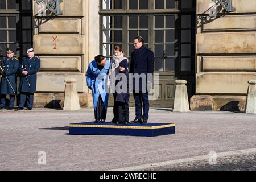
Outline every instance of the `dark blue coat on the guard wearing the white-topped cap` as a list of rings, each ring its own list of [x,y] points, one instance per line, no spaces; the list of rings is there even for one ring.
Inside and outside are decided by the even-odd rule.
[[[22,68],[23,65],[23,68]],[[22,64],[20,64],[19,72],[20,76],[20,84],[19,84],[19,92],[27,92],[27,93],[35,93],[36,92],[36,73],[39,72],[40,69],[40,59],[38,57],[32,57],[29,59],[28,57],[24,57]],[[30,82],[30,86],[28,86],[28,82],[26,77],[22,74],[23,71],[27,71],[28,81]]]

